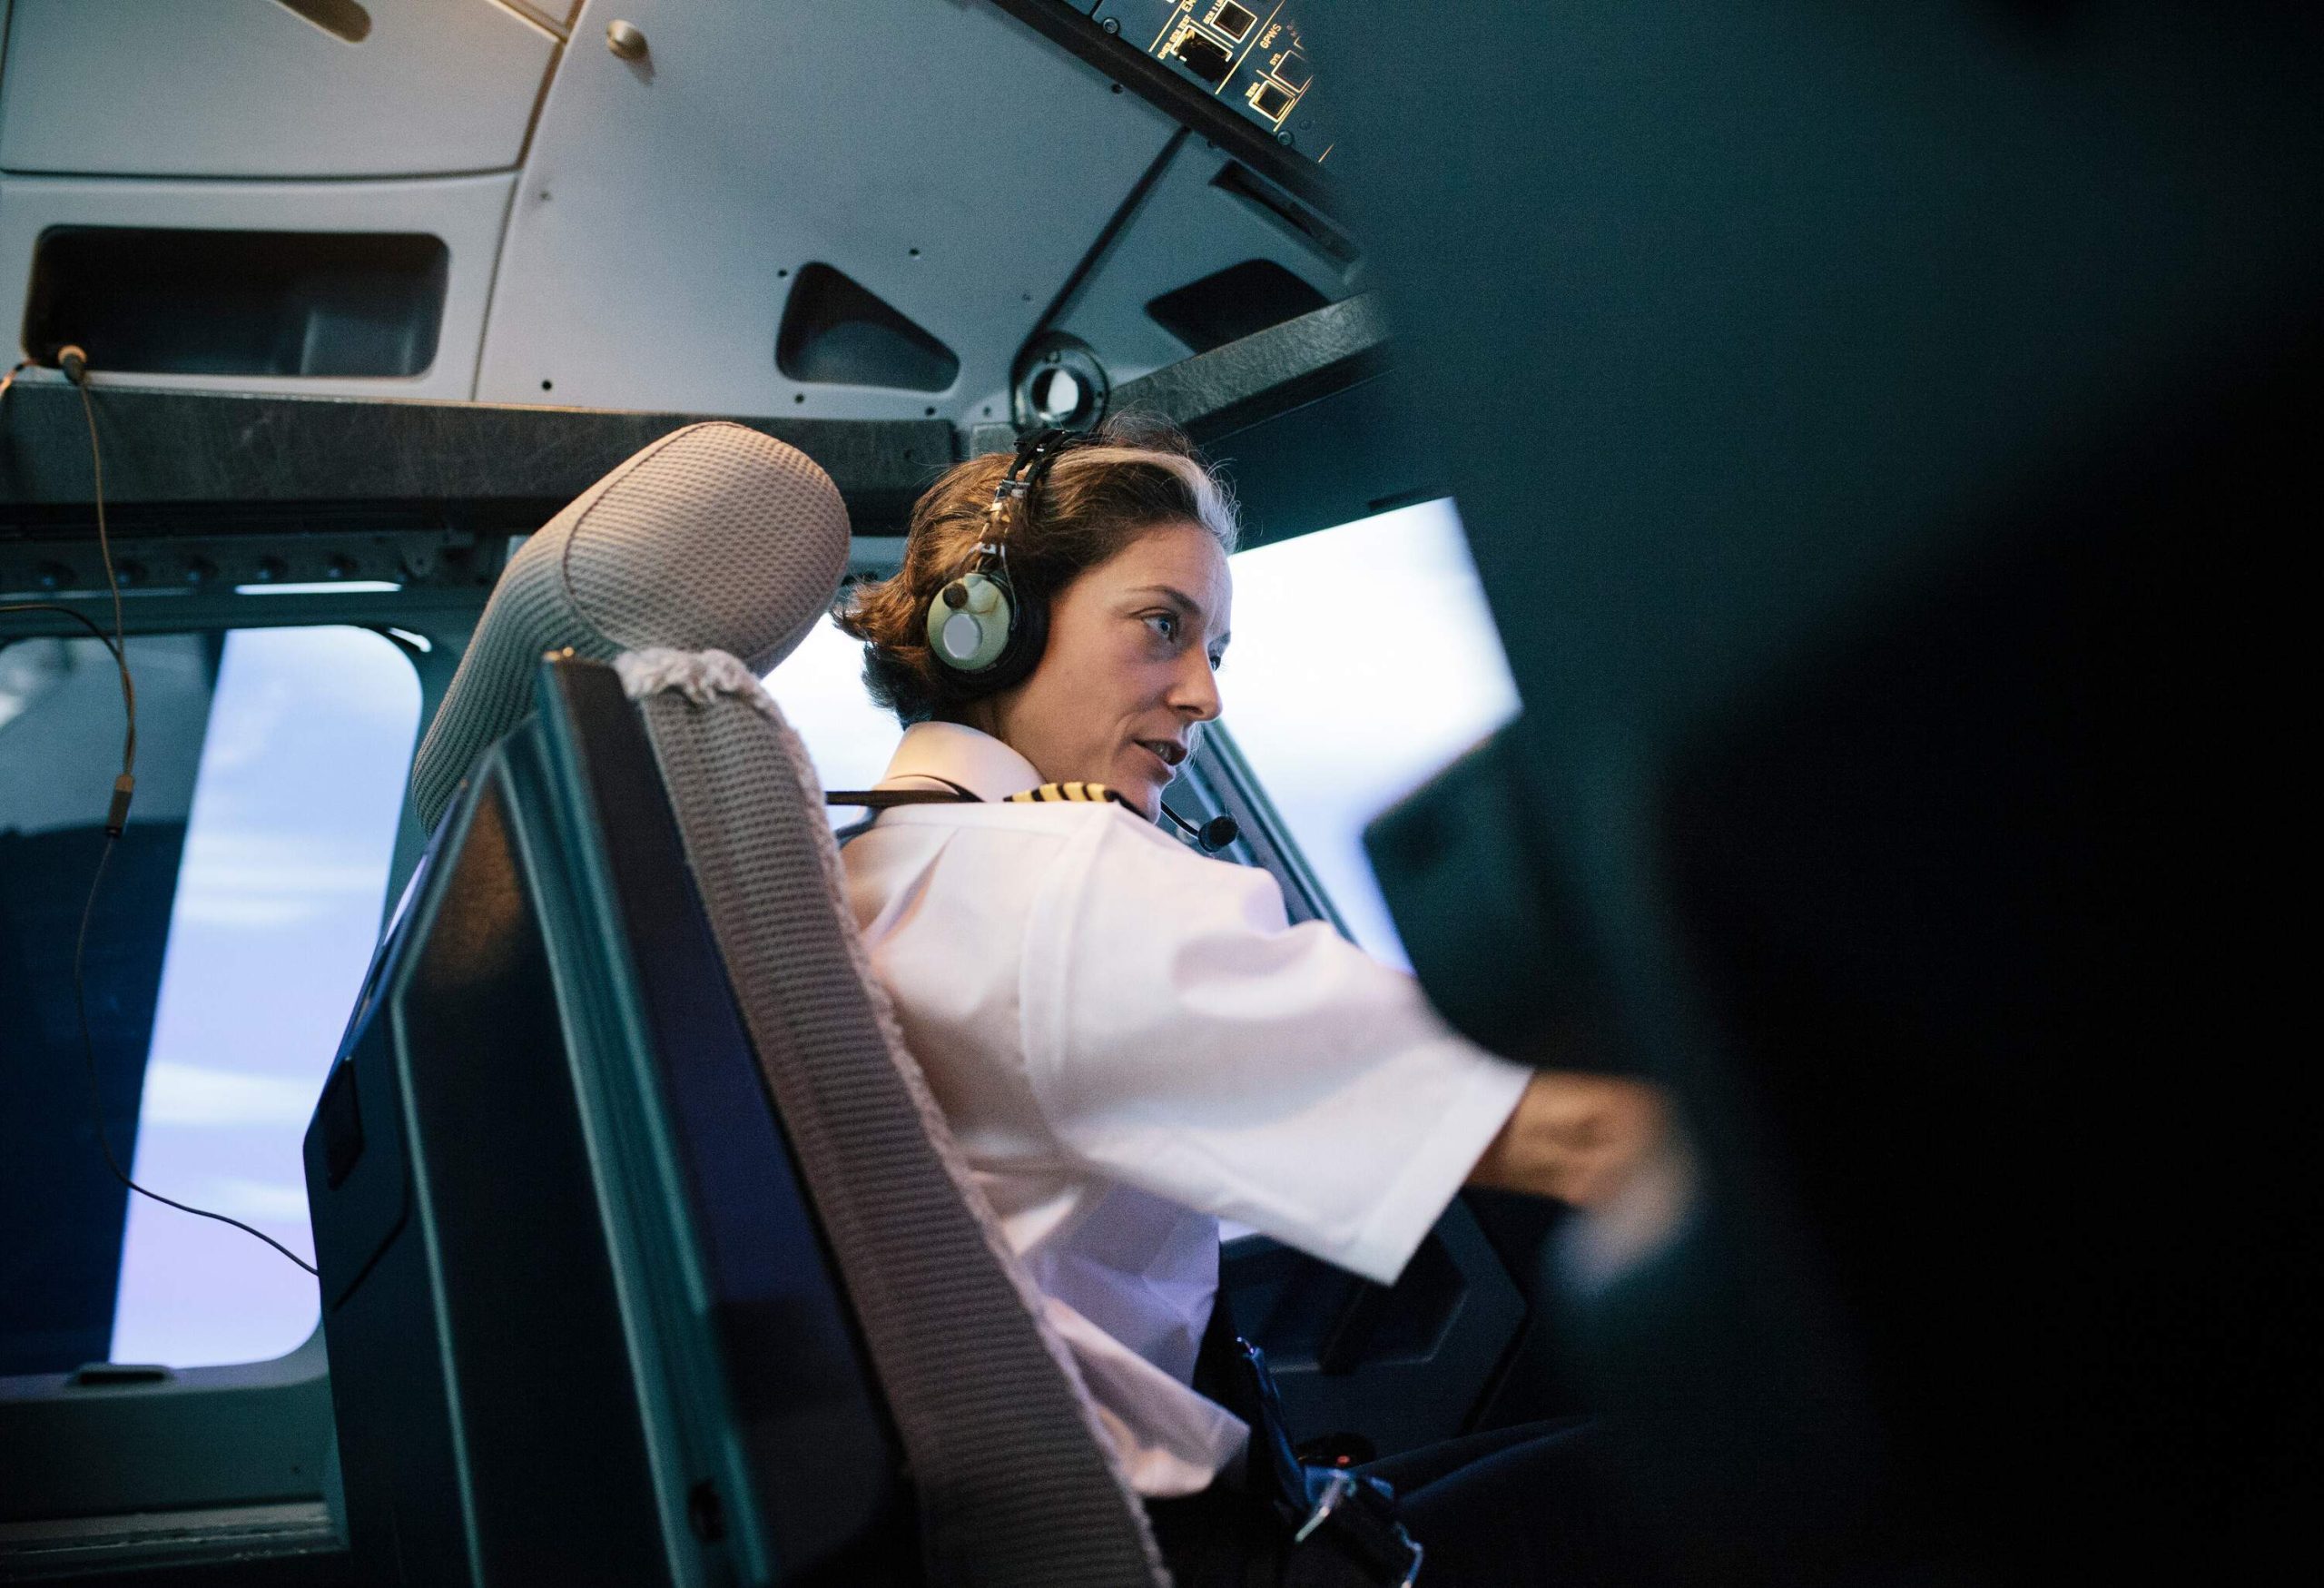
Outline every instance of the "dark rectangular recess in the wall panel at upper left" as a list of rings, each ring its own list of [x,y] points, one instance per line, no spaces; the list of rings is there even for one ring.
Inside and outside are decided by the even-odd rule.
[[[123,374],[423,374],[451,253],[421,233],[58,226],[33,251],[23,349]]]

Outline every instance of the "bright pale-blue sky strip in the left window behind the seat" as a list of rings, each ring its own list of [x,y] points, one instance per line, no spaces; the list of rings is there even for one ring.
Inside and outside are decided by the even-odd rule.
[[[300,1144],[379,935],[418,711],[381,635],[225,637],[130,1174],[307,1260]],[[316,1314],[314,1279],[249,1235],[128,1200],[112,1360],[265,1360]]]

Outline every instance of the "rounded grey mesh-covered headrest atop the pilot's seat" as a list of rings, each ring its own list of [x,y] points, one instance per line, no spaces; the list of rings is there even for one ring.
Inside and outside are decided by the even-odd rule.
[[[509,558],[414,760],[421,823],[435,828],[476,756],[532,709],[544,651],[730,651],[767,672],[846,565],[846,505],[806,453],[734,423],[672,430]]]

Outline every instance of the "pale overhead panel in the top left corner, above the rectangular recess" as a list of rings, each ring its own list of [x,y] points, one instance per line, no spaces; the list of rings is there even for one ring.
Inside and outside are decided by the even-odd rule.
[[[14,0],[0,167],[507,170],[523,158],[555,49],[548,26],[495,0]]]

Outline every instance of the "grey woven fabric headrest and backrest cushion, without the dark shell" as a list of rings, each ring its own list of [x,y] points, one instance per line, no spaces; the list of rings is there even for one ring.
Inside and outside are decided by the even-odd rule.
[[[1164,1583],[1146,1514],[904,1051],[813,765],[755,674],[846,567],[795,449],[693,425],[511,560],[421,749],[432,823],[530,707],[541,651],[616,658],[760,1072],[888,1395],[937,1583]],[[416,772],[416,781],[421,779]]]

